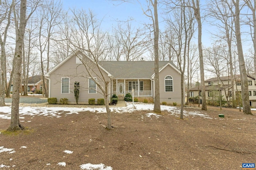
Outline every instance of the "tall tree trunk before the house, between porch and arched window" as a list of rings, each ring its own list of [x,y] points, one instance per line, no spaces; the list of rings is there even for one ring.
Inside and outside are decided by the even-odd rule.
[[[154,55],[155,55],[155,96],[154,96],[154,112],[161,113],[160,107],[160,89],[159,89],[159,51],[158,51],[158,41],[159,41],[159,25],[158,25],[158,13],[157,13],[157,0],[152,3],[154,7]]]

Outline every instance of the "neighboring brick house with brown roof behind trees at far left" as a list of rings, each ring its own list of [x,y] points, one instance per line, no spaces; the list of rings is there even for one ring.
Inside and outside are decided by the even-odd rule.
[[[24,91],[24,84],[22,80],[22,92]],[[35,92],[36,90],[43,91],[43,80],[41,75],[28,77],[28,92]],[[12,90],[11,90],[12,91]]]

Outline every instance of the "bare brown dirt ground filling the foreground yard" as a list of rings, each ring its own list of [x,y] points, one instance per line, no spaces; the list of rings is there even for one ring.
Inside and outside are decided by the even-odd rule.
[[[256,111],[244,115],[208,106],[204,113],[212,119],[190,115],[183,120],[166,111],[160,117],[146,113],[114,113],[112,130],[102,126],[105,113],[26,116],[28,130],[0,134],[0,147],[15,150],[0,152],[0,167],[10,166],[0,169],[80,170],[82,164],[102,163],[113,170],[241,170],[242,163],[256,163]],[[0,131],[9,124],[0,119]]]

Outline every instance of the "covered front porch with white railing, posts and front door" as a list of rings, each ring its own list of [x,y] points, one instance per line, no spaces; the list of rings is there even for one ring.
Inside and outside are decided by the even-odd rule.
[[[127,93],[132,94],[133,89],[136,97],[153,97],[153,86],[150,79],[116,79],[112,80],[112,94],[125,96]]]

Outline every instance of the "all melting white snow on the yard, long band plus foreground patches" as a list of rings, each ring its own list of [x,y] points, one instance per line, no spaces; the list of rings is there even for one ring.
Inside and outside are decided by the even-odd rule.
[[[111,111],[114,111],[116,113],[127,113],[132,112],[136,110],[148,110],[149,113],[146,113],[145,116],[147,117],[154,117],[159,118],[162,115],[157,115],[156,113],[150,113],[150,111],[153,111],[154,105],[153,104],[144,104],[144,103],[135,103],[134,106],[131,102],[127,102],[127,107],[111,107]],[[175,115],[177,117],[180,116],[180,108],[179,107],[173,107],[173,106],[161,106],[161,110],[168,111],[169,115]],[[63,114],[65,111],[65,114]],[[31,117],[37,116],[37,115],[43,115],[46,117],[62,117],[62,116],[68,116],[70,114],[79,114],[79,112],[82,111],[91,111],[96,113],[106,113],[105,107],[20,107],[20,121],[22,122],[25,115],[30,115]],[[203,112],[200,111],[184,111],[184,116],[192,115],[192,117],[200,116],[204,118],[210,118],[208,115],[206,115]],[[11,107],[10,106],[4,106],[0,108],[0,119],[10,119],[11,118]],[[142,120],[144,118],[144,115],[142,115]],[[28,121],[30,122],[30,121]],[[21,146],[20,149],[26,149],[26,146]],[[7,149],[4,148],[4,146],[0,147],[0,154],[1,152],[6,152],[7,154],[15,154],[14,149]],[[64,150],[64,154],[72,154],[73,151],[71,150]],[[10,156],[11,157],[11,156]],[[10,161],[12,158],[10,158]],[[46,164],[47,166],[50,166],[50,163]],[[59,166],[66,166],[66,162],[58,162]],[[4,165],[1,164],[0,160],[0,168],[10,168],[15,167],[15,165]],[[104,164],[82,164],[80,165],[81,170],[112,170],[112,167],[105,166]]]

